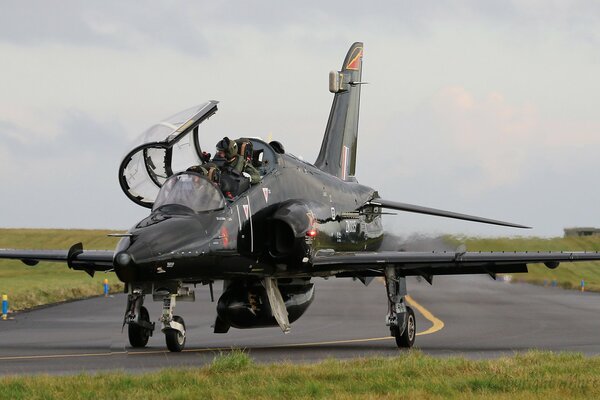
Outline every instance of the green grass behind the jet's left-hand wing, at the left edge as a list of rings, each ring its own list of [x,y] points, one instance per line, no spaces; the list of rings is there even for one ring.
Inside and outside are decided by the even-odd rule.
[[[62,229],[0,229],[0,248],[68,249],[83,242],[84,249],[112,250],[118,239],[106,235],[112,231]],[[66,263],[39,263],[28,267],[20,261],[0,260],[0,293],[8,294],[10,309],[23,310],[43,304],[80,299],[103,293],[108,278],[111,291],[123,285],[114,273],[72,271]]]

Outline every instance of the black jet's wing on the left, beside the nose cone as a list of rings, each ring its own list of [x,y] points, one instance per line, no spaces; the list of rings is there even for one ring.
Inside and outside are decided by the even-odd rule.
[[[40,261],[66,262],[69,268],[85,271],[94,276],[96,271],[110,271],[113,269],[113,251],[109,250],[83,250],[81,243],[77,243],[69,250],[13,250],[0,249],[0,259],[21,260],[33,266]]]

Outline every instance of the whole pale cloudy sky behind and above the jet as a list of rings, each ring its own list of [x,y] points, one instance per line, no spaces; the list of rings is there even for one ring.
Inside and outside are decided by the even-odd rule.
[[[371,4],[373,3],[373,4]],[[218,100],[203,145],[260,136],[316,159],[328,72],[364,42],[357,178],[396,234],[600,227],[600,3],[3,1],[0,227],[127,229],[118,167],[141,132]]]

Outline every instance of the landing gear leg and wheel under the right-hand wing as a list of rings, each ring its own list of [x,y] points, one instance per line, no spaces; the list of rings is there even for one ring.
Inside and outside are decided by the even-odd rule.
[[[387,267],[385,288],[388,297],[386,325],[390,327],[390,334],[396,338],[398,347],[410,348],[415,343],[417,325],[414,311],[404,301],[406,278],[398,276],[394,267]]]

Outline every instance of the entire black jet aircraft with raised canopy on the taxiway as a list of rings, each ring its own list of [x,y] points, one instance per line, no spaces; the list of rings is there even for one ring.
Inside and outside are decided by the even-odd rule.
[[[309,307],[316,277],[385,279],[386,323],[399,347],[411,347],[416,325],[405,303],[406,277],[431,283],[434,275],[527,272],[527,264],[556,268],[562,261],[600,260],[598,253],[377,251],[384,210],[398,210],[516,228],[522,225],[381,198],[355,178],[363,44],[354,43],[340,71],[329,76],[333,105],[314,164],[284,151],[276,141],[240,142],[240,152],[261,180],[227,196],[202,165],[199,126],[217,111],[208,101],[160,122],[140,138],[119,168],[121,188],[149,215],[127,233],[115,234],[114,251],[0,250],[0,258],[27,265],[63,261],[74,270],[114,271],[128,294],[123,324],[129,342],[144,347],[155,330],[146,295],[163,303],[159,318],[166,344],[186,341],[178,301],[193,301],[194,288],[223,281],[215,333],[280,326],[284,332]],[[250,149],[250,151],[248,151]],[[206,165],[206,164],[205,164]],[[221,171],[221,180],[226,171]]]

